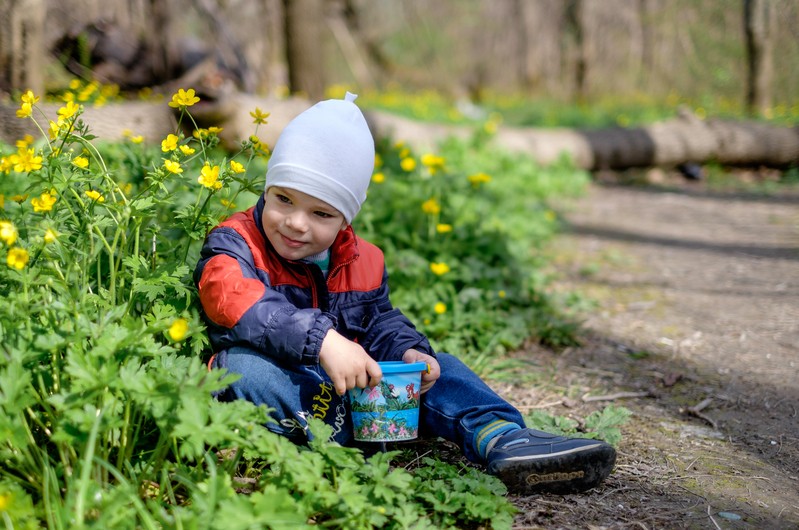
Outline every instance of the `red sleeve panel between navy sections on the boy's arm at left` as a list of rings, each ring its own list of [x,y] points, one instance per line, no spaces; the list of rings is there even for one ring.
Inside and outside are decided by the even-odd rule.
[[[257,278],[245,278],[236,258],[217,254],[205,264],[198,290],[208,318],[232,328],[261,299],[266,286]]]

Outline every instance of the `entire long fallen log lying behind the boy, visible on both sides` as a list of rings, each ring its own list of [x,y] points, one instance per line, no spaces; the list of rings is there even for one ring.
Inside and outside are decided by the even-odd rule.
[[[258,135],[274,145],[280,131],[310,105],[299,98],[277,99],[249,94],[203,101],[192,107],[192,115],[207,127],[222,127],[223,145],[238,149],[241,141],[255,134],[250,112],[256,107],[270,112],[269,123]],[[55,115],[55,105],[45,105]],[[0,105],[0,140],[13,143],[23,134],[35,134],[30,120],[16,117],[17,107]],[[469,138],[474,126],[419,122],[381,111],[366,111],[378,139],[402,140],[418,151],[435,150],[448,137]],[[52,119],[52,118],[51,118]],[[88,107],[83,119],[103,140],[117,140],[123,131],[142,134],[158,143],[175,129],[175,119],[165,102],[114,103]],[[644,127],[567,129],[500,126],[493,143],[502,149],[529,155],[541,164],[562,156],[587,170],[634,167],[674,167],[681,164],[715,162],[724,166],[755,166],[783,169],[799,165],[799,127],[784,127],[756,121],[700,119],[688,112]]]

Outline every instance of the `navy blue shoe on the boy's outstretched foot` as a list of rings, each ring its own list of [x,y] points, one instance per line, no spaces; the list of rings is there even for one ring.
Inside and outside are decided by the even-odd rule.
[[[565,494],[597,486],[615,463],[616,450],[606,442],[521,429],[499,437],[487,470],[516,495]]]

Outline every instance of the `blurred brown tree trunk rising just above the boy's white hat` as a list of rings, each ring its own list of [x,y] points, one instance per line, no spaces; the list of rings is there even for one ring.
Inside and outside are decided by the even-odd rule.
[[[322,1],[283,0],[289,90],[311,100],[324,96]]]

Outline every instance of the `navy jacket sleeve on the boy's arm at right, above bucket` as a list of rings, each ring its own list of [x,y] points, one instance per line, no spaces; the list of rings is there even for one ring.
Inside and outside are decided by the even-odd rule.
[[[398,361],[406,350],[415,348],[435,357],[435,352],[421,332],[389,301],[388,273],[377,293],[377,310],[372,314],[363,335],[362,346],[378,361]]]

